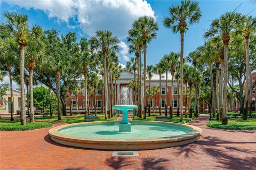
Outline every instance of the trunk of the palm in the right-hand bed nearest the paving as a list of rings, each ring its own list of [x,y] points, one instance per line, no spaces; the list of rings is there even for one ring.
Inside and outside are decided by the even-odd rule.
[[[224,70],[223,70],[223,105],[222,105],[222,124],[228,124],[227,118],[227,82],[228,82],[228,44],[224,45]]]

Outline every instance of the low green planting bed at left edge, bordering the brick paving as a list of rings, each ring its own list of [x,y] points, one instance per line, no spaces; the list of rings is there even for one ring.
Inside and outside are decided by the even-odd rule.
[[[0,119],[0,130],[1,131],[27,131],[33,129],[49,128],[52,123],[49,122],[27,122],[26,125],[21,125],[20,121],[10,121],[3,118]]]

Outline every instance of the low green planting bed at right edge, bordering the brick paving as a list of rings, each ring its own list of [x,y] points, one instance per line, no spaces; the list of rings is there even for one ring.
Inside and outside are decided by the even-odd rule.
[[[221,124],[220,121],[209,121],[207,126],[217,129],[256,130],[256,120],[228,120],[227,125]]]

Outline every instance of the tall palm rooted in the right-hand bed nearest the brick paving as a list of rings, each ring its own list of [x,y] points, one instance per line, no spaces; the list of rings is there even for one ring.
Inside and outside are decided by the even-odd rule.
[[[205,38],[220,35],[224,44],[224,62],[223,62],[223,105],[222,105],[222,124],[228,123],[227,112],[227,81],[228,81],[228,50],[230,33],[235,30],[237,21],[241,19],[241,15],[235,12],[227,12],[222,14],[220,18],[214,19],[210,25],[210,29],[204,34]]]

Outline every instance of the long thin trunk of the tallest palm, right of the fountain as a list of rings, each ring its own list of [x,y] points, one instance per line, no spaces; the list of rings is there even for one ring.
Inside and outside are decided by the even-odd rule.
[[[180,121],[183,120],[183,49],[184,32],[180,33]]]

